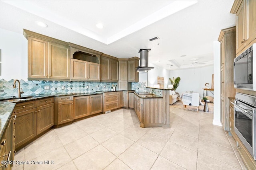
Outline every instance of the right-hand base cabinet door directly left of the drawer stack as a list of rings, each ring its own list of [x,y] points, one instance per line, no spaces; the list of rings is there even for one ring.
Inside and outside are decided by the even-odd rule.
[[[103,111],[102,94],[90,96],[90,114],[100,113]]]

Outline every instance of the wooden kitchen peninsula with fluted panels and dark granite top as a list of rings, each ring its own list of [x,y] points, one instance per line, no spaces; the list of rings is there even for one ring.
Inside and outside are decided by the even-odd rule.
[[[134,110],[140,120],[140,127],[170,128],[170,89],[147,87],[147,90],[134,93]]]

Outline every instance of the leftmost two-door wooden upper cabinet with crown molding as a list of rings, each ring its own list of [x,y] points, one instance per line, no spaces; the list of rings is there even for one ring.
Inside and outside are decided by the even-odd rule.
[[[68,43],[23,29],[28,39],[28,80],[70,80]]]

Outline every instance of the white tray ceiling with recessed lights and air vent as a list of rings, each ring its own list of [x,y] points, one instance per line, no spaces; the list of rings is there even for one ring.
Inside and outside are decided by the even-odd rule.
[[[28,29],[118,58],[140,57],[139,49],[147,48],[150,63],[184,69],[213,64],[213,41],[221,29],[235,25],[233,2],[1,0],[0,27],[17,33]],[[155,36],[160,39],[148,41]]]

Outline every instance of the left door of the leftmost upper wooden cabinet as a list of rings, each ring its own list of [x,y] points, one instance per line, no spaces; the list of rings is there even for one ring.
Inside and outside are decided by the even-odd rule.
[[[48,41],[28,37],[29,78],[48,78]]]

